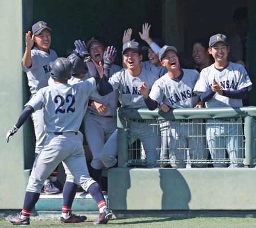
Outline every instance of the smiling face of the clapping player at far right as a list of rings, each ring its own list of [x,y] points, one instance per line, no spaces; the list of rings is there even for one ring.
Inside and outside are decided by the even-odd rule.
[[[226,64],[228,62],[229,46],[223,42],[218,42],[208,49],[212,54],[215,62],[219,64]]]

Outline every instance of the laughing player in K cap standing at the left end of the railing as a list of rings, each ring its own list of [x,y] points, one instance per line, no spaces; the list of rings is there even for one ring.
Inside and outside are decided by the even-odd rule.
[[[143,96],[138,91],[141,82],[145,82],[148,88],[151,88],[156,79],[157,74],[152,73],[141,67],[142,55],[139,44],[129,41],[123,45],[123,62],[127,69],[123,69],[109,78],[109,81],[101,83],[99,90],[101,95],[108,94],[115,90],[119,91],[119,102],[122,107],[126,108],[146,108]],[[155,166],[152,164],[159,158],[159,149],[161,145],[160,137],[158,137],[159,126],[151,124],[150,121],[131,120],[128,123],[129,129],[129,145],[137,138],[141,140],[146,153],[146,159],[151,164],[148,167]],[[111,167],[117,163],[115,158],[117,155],[117,131],[106,142],[104,149],[101,151],[101,161],[106,167]],[[153,162],[152,162],[153,161]]]

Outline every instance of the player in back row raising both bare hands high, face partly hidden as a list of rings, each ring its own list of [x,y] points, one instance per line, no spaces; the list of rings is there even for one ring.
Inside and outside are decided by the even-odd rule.
[[[150,31],[150,25],[148,25],[148,23],[145,23],[142,25],[142,33],[139,32],[139,35],[141,36],[141,39],[146,41],[146,43],[149,45],[149,47],[142,47],[142,50],[147,50],[148,54],[148,61],[142,61],[141,62],[141,67],[145,68],[147,70],[152,71],[155,74],[158,74],[159,77],[162,77],[164,74],[167,73],[167,69],[166,67],[163,67],[160,64],[159,58],[158,58],[158,51],[160,48],[158,48],[159,46],[162,46],[163,42],[162,40],[159,39],[151,39],[149,36],[149,31]],[[133,32],[133,29],[128,28],[127,30],[125,30],[125,32],[123,33],[123,44],[127,43],[128,41],[131,40],[131,33]],[[154,52],[154,50],[152,50],[151,46],[155,49],[158,50],[157,52]]]

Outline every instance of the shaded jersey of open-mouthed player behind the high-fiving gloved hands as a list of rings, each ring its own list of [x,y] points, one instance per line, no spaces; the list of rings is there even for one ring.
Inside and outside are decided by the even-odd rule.
[[[121,69],[122,69],[121,66],[113,64],[109,71],[110,78],[114,73],[118,72]],[[91,75],[89,74],[89,71],[86,74],[86,77],[89,77],[89,78],[91,77]],[[106,96],[100,96],[100,94],[98,94],[98,91],[95,91],[94,94],[90,96],[90,99],[103,104],[108,111],[105,112],[104,114],[100,114],[95,108],[93,108],[92,106],[88,106],[87,112],[94,113],[96,115],[102,115],[102,116],[117,116],[118,94],[119,94],[118,91],[113,91]]]

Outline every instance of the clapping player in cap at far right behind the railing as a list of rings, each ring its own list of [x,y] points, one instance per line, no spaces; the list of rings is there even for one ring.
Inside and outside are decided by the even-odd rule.
[[[228,61],[230,47],[223,34],[210,37],[209,53],[214,64],[203,69],[194,91],[201,93],[201,100],[208,108],[242,107],[251,89],[251,81],[245,67]],[[237,126],[238,125],[238,126]],[[239,167],[236,159],[242,158],[242,119],[207,120],[207,142],[213,159],[225,158],[226,151],[231,160],[229,167]],[[226,167],[225,163],[214,163],[214,167]]]

